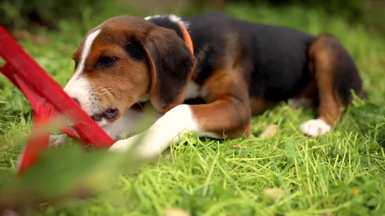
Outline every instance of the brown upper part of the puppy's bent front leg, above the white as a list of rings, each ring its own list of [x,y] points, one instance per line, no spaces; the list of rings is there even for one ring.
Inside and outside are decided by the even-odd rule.
[[[203,83],[205,105],[191,105],[192,112],[205,131],[235,138],[251,133],[248,90],[236,70],[214,71]],[[243,84],[242,84],[243,83]],[[215,115],[213,115],[215,113]]]

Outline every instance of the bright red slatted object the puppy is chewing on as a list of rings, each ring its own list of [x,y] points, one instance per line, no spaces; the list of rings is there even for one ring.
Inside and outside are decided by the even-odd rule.
[[[74,125],[61,130],[78,138],[84,145],[108,148],[114,141],[100,128],[62,87],[0,25],[0,56],[6,61],[0,71],[17,86],[33,108],[33,129],[20,158],[17,174],[24,173],[39,160],[49,146],[49,133],[39,128],[64,116]],[[34,135],[37,134],[37,135]]]

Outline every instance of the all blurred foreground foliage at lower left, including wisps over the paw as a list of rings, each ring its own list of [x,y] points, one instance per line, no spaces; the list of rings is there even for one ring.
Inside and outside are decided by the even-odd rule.
[[[151,159],[137,157],[135,149],[148,128],[156,120],[157,113],[152,106],[145,106],[145,118],[137,131],[144,131],[131,149],[124,153],[80,147],[72,138],[65,145],[42,151],[40,160],[18,178],[14,173],[0,175],[0,215],[8,209],[23,213],[42,210],[49,205],[61,205],[74,199],[90,198],[102,191],[110,190],[111,179],[118,173],[132,173]],[[49,123],[50,124],[50,123]],[[42,126],[37,133],[46,133],[49,127]],[[137,133],[134,131],[134,133]],[[16,152],[20,152],[18,149]],[[0,167],[10,161],[13,151],[0,142]],[[7,156],[8,155],[8,156]],[[11,157],[12,157],[11,156]],[[13,163],[14,164],[14,163]],[[13,166],[15,168],[15,166]]]

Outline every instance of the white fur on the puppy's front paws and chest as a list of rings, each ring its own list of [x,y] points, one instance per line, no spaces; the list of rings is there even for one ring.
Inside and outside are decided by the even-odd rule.
[[[136,143],[138,138],[143,138],[141,145],[137,149],[137,155],[141,158],[153,158],[158,156],[163,150],[173,142],[189,132],[194,132],[198,136],[208,136],[221,139],[223,136],[216,133],[206,132],[200,123],[193,116],[189,105],[179,105],[161,116],[147,131],[142,134],[132,136],[126,140],[125,136],[134,132],[141,124],[143,112],[127,110],[121,118],[114,123],[102,126],[102,129],[114,140],[118,140],[110,147],[111,151],[126,151]],[[143,136],[143,137],[142,137]],[[63,143],[68,135],[51,135],[50,145],[57,146]]]

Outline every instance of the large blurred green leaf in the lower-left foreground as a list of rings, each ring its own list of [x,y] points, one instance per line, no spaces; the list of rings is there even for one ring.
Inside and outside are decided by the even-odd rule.
[[[0,212],[12,209],[23,213],[41,203],[47,205],[92,196],[107,189],[116,173],[137,166],[137,161],[130,160],[126,154],[86,153],[78,145],[50,148],[25,174],[2,182]]]

